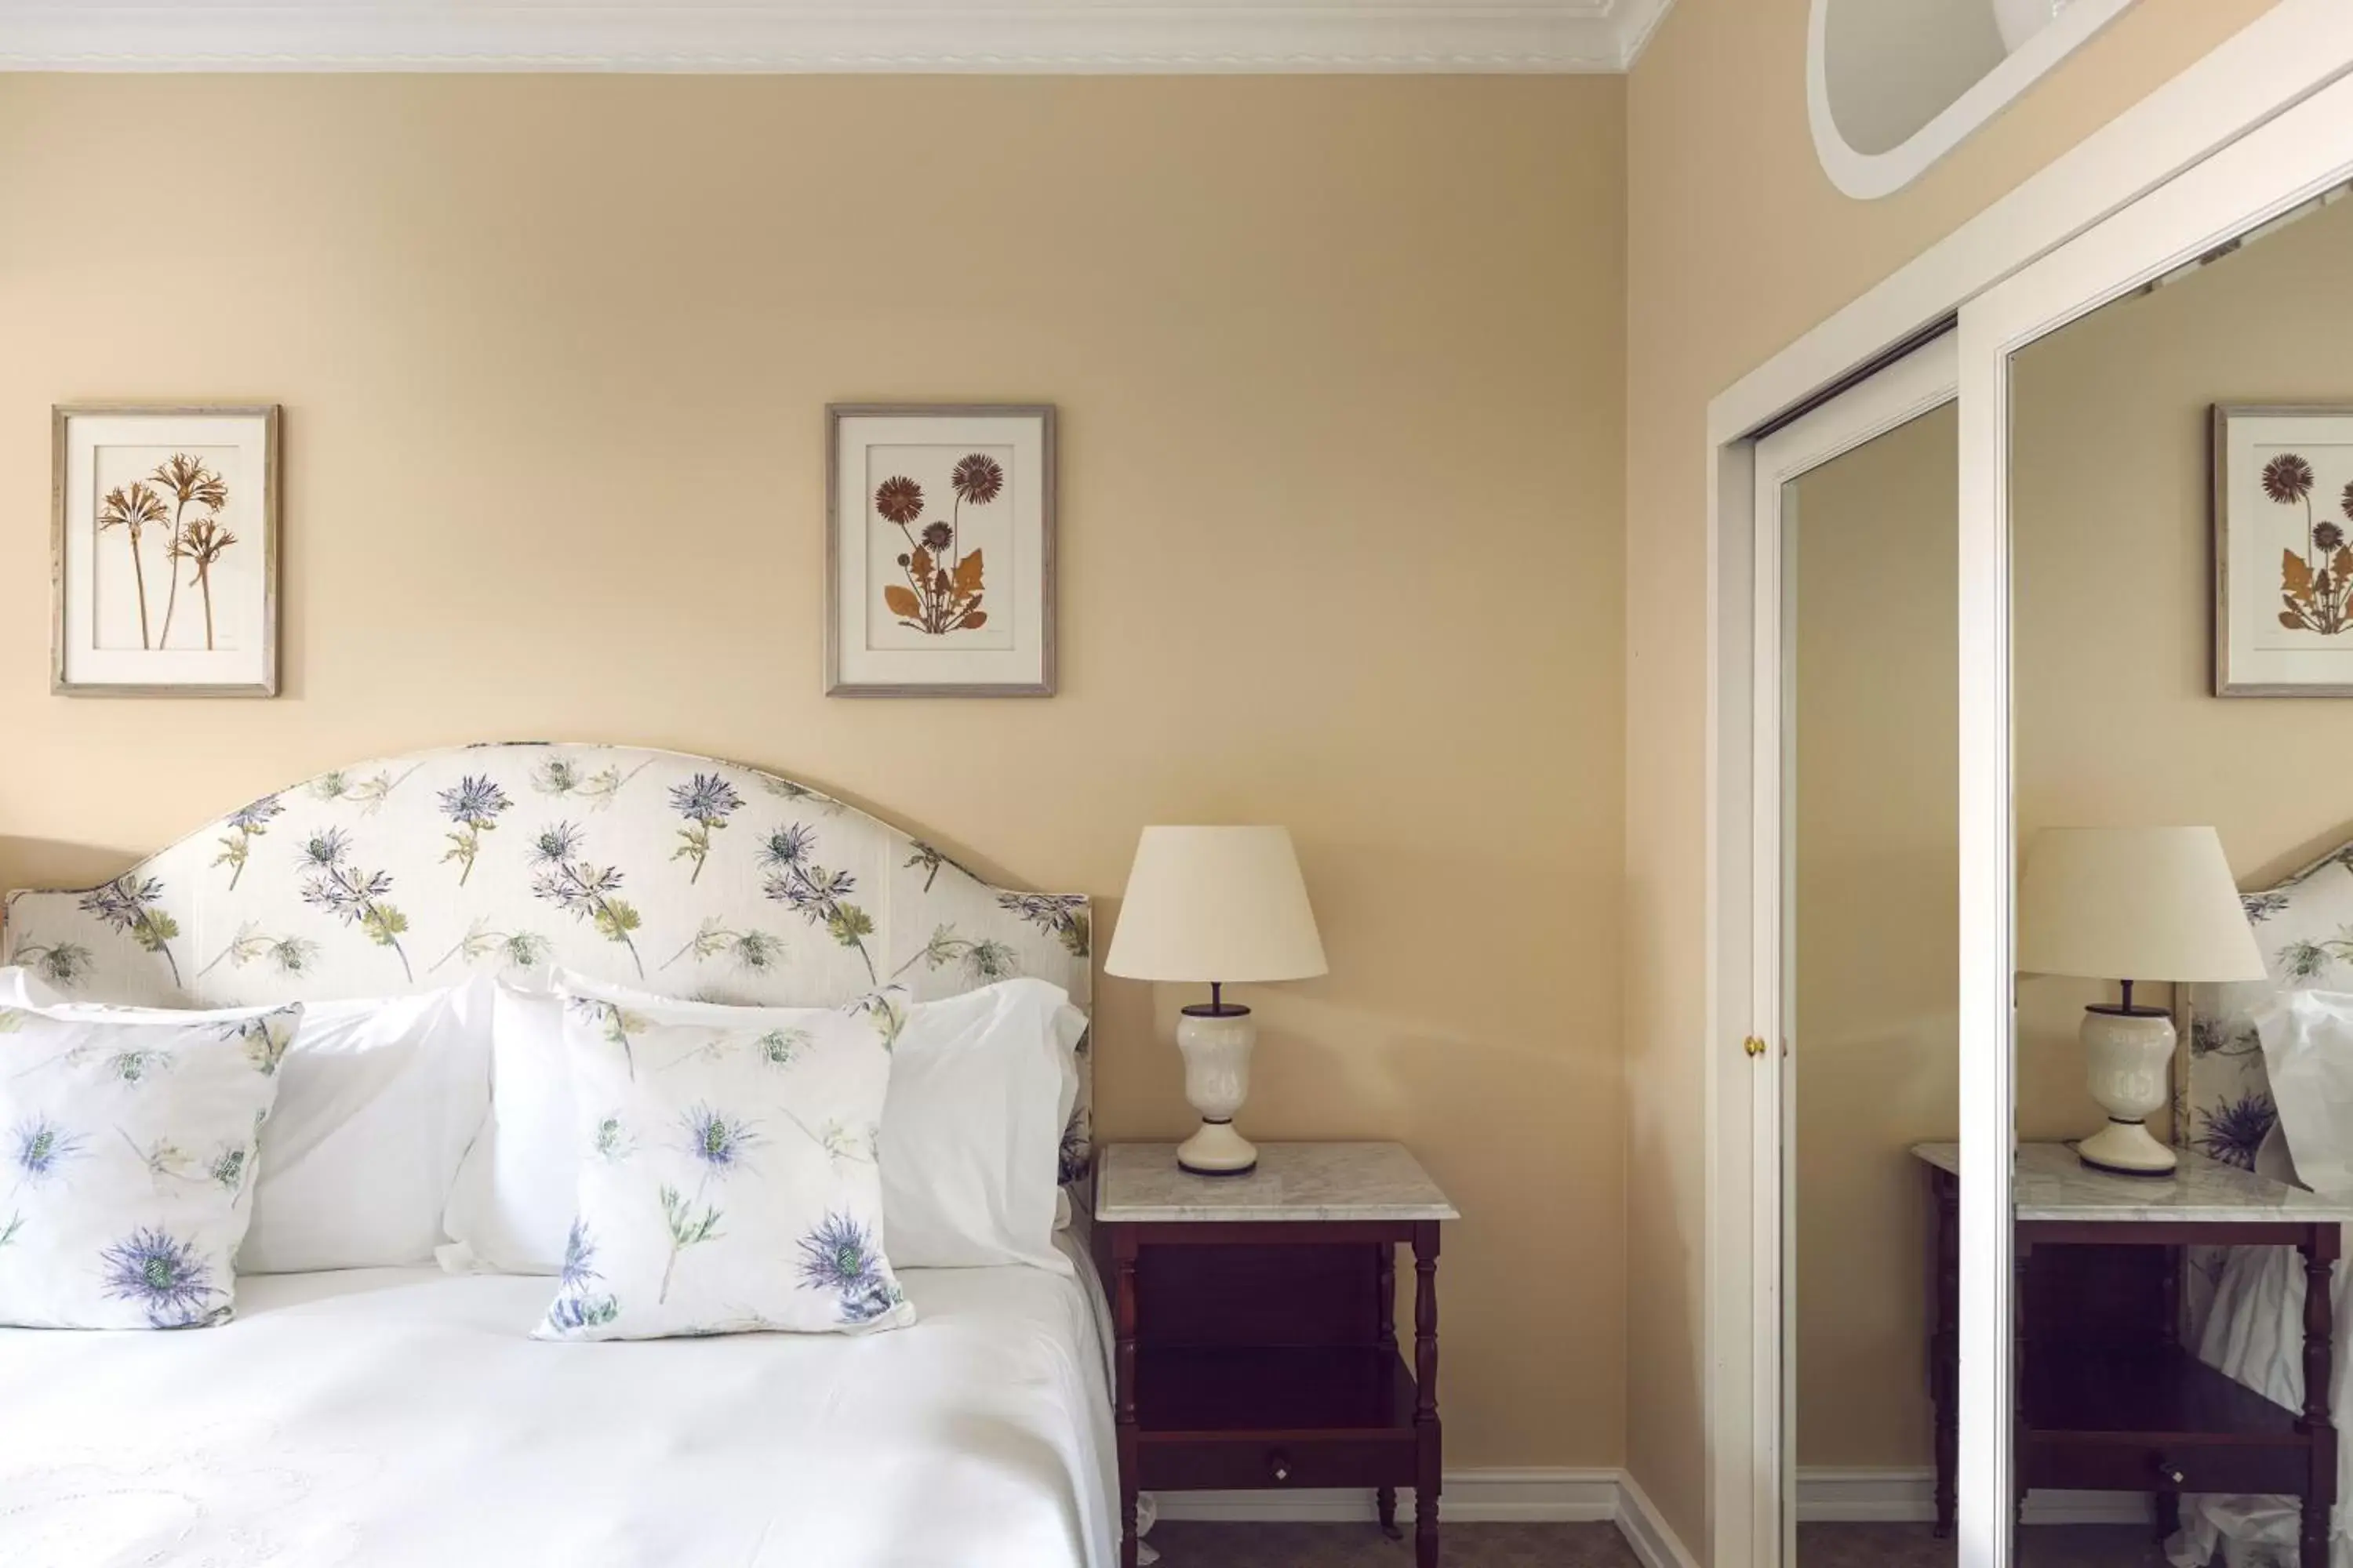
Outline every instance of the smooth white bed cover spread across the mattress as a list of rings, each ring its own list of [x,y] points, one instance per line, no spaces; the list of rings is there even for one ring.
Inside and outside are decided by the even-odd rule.
[[[1111,1568],[1101,1291],[906,1269],[866,1338],[544,1345],[548,1279],[238,1281],[184,1333],[0,1328],[7,1568]]]

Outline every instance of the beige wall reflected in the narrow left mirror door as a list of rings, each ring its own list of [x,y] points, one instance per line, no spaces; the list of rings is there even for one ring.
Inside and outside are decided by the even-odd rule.
[[[1795,482],[1798,1465],[1925,1465],[1927,1199],[1960,1105],[1960,411]]]

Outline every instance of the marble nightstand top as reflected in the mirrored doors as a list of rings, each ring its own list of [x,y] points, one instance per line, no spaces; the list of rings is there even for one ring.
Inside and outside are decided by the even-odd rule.
[[[2064,1143],[2021,1143],[2012,1185],[2017,1218],[2200,1225],[2353,1220],[2353,1199],[2320,1197],[2191,1150],[2174,1154],[2181,1166],[2172,1175],[2111,1175],[2085,1166]],[[1960,1173],[1958,1143],[1915,1143],[1913,1157]]]

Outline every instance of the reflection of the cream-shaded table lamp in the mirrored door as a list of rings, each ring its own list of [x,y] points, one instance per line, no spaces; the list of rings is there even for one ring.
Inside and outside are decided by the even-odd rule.
[[[2075,1154],[2167,1175],[2174,1152],[2144,1119],[2165,1105],[2174,1023],[2134,1006],[2134,980],[2261,980],[2264,954],[2212,827],[2045,827],[2019,877],[2019,971],[2122,980],[2122,1004],[2082,1013],[2092,1098],[2108,1126]]]

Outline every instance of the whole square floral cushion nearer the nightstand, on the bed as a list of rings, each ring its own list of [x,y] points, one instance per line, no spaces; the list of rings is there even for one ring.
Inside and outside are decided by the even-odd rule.
[[[906,990],[798,1027],[565,997],[586,1154],[541,1340],[864,1333],[915,1321],[875,1143]]]

